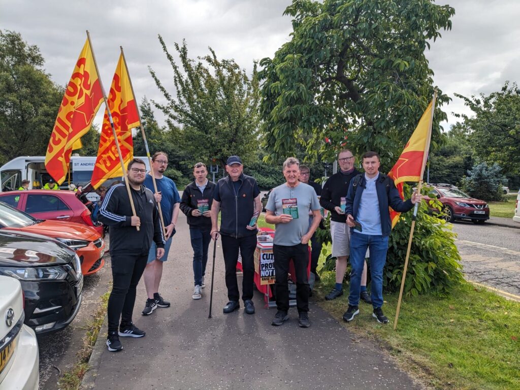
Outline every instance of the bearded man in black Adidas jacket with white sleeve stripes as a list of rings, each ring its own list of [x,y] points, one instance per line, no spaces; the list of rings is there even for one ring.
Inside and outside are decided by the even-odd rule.
[[[157,257],[164,254],[159,210],[152,191],[142,186],[145,174],[144,161],[133,159],[128,163],[127,179],[136,216],[124,184],[110,187],[99,210],[99,220],[109,226],[110,232],[113,285],[108,300],[107,347],[111,352],[123,349],[119,336],[145,335],[132,322],[136,287],[145,270],[152,240],[157,245]]]

